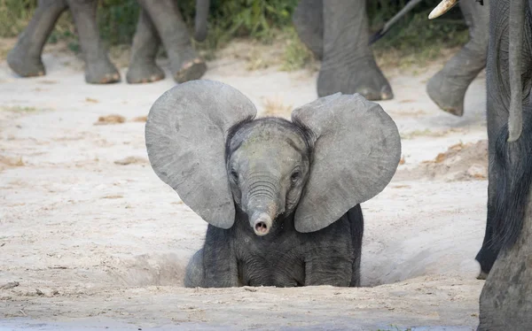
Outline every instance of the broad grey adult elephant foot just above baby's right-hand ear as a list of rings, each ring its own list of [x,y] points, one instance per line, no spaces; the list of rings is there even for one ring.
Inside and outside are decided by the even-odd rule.
[[[359,93],[368,100],[389,100],[392,88],[374,58],[364,58],[341,64],[325,58],[317,77],[317,95]]]

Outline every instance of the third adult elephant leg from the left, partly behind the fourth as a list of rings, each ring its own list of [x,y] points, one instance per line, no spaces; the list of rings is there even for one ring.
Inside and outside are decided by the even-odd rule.
[[[160,46],[157,29],[145,10],[138,16],[137,31],[131,47],[131,59],[126,80],[130,84],[147,83],[164,79],[164,72],[155,64]]]

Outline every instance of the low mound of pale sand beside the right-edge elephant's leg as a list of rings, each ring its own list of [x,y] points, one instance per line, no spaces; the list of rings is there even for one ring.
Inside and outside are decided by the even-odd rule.
[[[488,178],[488,141],[458,143],[433,160],[411,169],[399,169],[395,179],[443,181],[483,181]]]

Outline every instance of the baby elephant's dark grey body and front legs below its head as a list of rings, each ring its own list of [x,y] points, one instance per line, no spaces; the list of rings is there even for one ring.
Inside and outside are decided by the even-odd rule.
[[[276,223],[270,235],[263,237],[254,234],[243,212],[230,229],[209,225],[203,248],[186,268],[184,286],[360,285],[364,232],[360,205],[309,234],[295,230],[293,215]]]

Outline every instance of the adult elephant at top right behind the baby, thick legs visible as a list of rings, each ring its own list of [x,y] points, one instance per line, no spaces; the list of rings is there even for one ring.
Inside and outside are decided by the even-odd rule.
[[[368,44],[366,1],[301,0],[298,4],[293,14],[296,30],[301,41],[323,61],[317,80],[318,96],[336,92],[360,93],[371,100],[394,96]],[[477,6],[464,2],[460,9],[470,40],[428,81],[426,88],[435,104],[457,116],[464,113],[467,87],[486,65],[489,25],[488,13]]]

